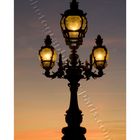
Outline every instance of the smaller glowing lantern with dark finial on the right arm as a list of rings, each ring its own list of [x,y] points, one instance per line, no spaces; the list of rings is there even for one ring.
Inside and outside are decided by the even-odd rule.
[[[92,58],[94,67],[97,69],[104,69],[107,66],[108,51],[105,46],[102,46],[103,39],[98,35],[96,39],[97,46],[92,50]]]

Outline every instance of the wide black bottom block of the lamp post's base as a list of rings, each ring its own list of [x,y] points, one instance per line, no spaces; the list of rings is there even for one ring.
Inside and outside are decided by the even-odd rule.
[[[62,133],[64,134],[62,140],[86,140],[84,127],[64,127]]]

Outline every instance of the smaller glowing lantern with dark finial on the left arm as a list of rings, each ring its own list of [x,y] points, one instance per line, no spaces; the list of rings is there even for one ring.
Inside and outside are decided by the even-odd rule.
[[[45,39],[45,46],[41,47],[39,50],[39,59],[41,61],[41,66],[44,69],[52,69],[55,65],[57,59],[57,54],[55,49],[51,46],[50,36]]]

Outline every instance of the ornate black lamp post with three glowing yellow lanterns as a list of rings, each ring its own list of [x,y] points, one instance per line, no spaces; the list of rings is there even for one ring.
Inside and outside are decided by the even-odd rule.
[[[100,35],[95,41],[96,45],[89,56],[89,62],[82,63],[77,54],[77,49],[82,45],[83,38],[87,32],[87,18],[86,13],[78,8],[78,2],[72,0],[70,9],[62,14],[60,26],[65,38],[66,45],[71,49],[69,58],[63,62],[62,55],[59,54],[58,70],[51,72],[55,65],[57,54],[53,48],[52,40],[47,35],[44,43],[45,46],[39,50],[39,58],[43,69],[45,69],[45,76],[49,78],[60,78],[68,80],[70,88],[70,105],[66,111],[65,120],[67,127],[62,129],[64,134],[62,140],[86,140],[84,134],[86,129],[81,127],[82,111],[78,106],[77,91],[80,86],[81,79],[89,80],[92,78],[99,78],[103,76],[103,69],[107,66],[108,51],[103,46],[103,39]],[[93,67],[98,70],[93,71]]]

